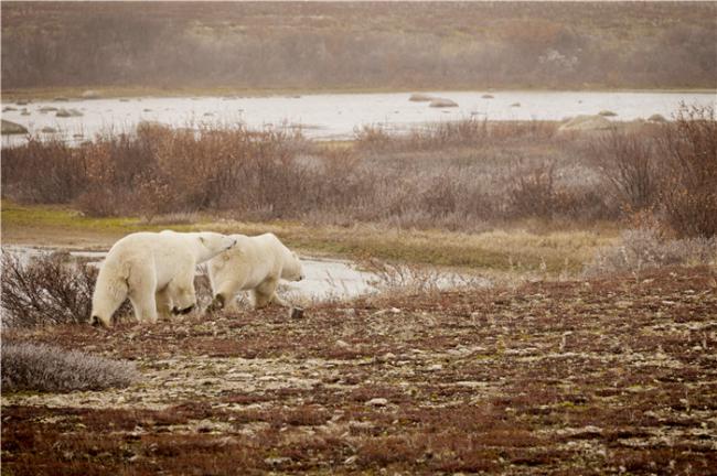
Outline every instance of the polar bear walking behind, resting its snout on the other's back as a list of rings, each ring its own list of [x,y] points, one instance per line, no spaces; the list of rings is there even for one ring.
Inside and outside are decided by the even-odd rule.
[[[117,241],[99,269],[90,324],[110,326],[113,314],[129,298],[139,322],[186,313],[196,304],[194,269],[236,245],[212,231],[141,231]]]

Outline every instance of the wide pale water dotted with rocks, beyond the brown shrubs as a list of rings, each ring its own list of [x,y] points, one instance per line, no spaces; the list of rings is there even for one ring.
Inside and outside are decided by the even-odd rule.
[[[432,91],[434,97],[456,101],[458,107],[431,108],[409,101],[407,93],[312,94],[268,97],[175,97],[3,102],[2,118],[20,123],[30,133],[60,136],[78,142],[100,132],[131,132],[141,121],[172,127],[244,123],[250,129],[300,129],[312,139],[351,139],[362,126],[406,131],[429,122],[470,117],[489,120],[563,120],[610,110],[613,120],[646,119],[660,113],[670,119],[682,102],[715,105],[715,93],[595,93],[595,91]],[[492,96],[492,97],[489,97]],[[82,116],[60,118],[47,108],[74,110]],[[44,112],[43,112],[44,110]],[[57,132],[42,132],[43,129]],[[24,141],[3,136],[2,144]]]

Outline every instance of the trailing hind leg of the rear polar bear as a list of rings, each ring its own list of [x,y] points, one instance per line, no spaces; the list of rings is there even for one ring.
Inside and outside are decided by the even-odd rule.
[[[105,260],[99,269],[93,293],[93,311],[89,318],[92,325],[110,327],[115,311],[127,299],[129,269],[122,268],[128,267]]]

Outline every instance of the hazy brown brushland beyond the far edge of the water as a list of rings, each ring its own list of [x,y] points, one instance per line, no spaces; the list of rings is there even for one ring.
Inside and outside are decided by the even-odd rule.
[[[717,3],[3,3],[3,91],[85,86],[714,88]]]

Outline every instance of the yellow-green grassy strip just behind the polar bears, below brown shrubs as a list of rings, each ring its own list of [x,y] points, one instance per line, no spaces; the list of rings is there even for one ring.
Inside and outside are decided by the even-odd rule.
[[[160,220],[161,221],[161,220]],[[191,224],[147,224],[141,218],[89,218],[66,207],[20,206],[2,203],[4,245],[72,245],[107,248],[135,231],[215,230],[258,235],[271,231],[303,253],[355,260],[376,258],[393,262],[471,268],[480,271],[572,273],[595,251],[614,242],[614,224],[586,229],[523,221],[483,232],[402,230],[377,225],[312,226],[299,221],[247,223],[197,216]]]

